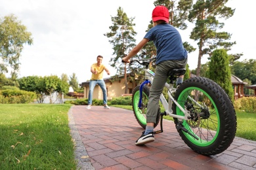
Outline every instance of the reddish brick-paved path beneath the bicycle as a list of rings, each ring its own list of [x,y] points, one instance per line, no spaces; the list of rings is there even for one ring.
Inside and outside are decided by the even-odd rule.
[[[81,169],[256,169],[255,141],[236,137],[223,153],[203,156],[182,141],[172,121],[163,120],[163,133],[155,135],[153,143],[136,146],[135,141],[144,129],[133,111],[85,107],[70,109],[79,140],[85,147],[78,161],[91,165]]]

